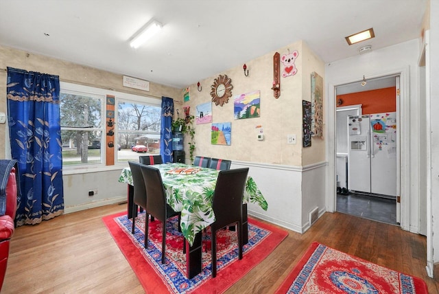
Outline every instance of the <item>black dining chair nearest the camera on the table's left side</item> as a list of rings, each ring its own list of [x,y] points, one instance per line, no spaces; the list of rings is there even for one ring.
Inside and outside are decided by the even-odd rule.
[[[160,174],[160,170],[153,168],[152,166],[141,166],[141,172],[143,175],[143,181],[145,182],[145,188],[147,193],[146,199],[146,225],[145,225],[145,248],[147,248],[147,232],[149,230],[150,223],[148,216],[154,216],[160,220],[163,224],[162,230],[162,263],[165,264],[166,254],[166,223],[167,220],[173,216],[178,216],[178,227],[180,227],[180,212],[174,211],[169,204],[166,203],[165,187],[163,187],[163,180]]]

